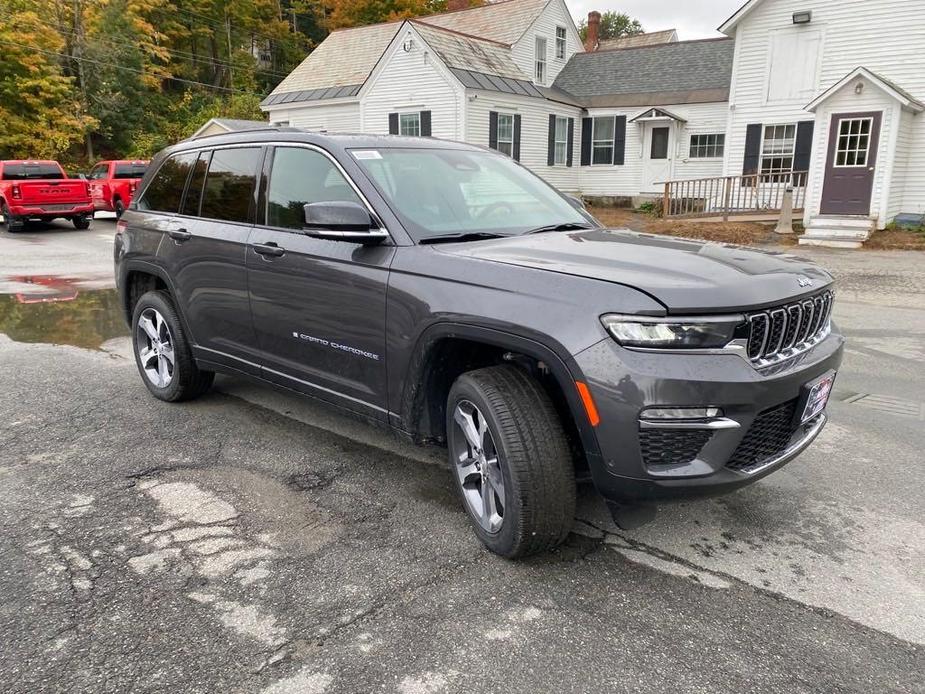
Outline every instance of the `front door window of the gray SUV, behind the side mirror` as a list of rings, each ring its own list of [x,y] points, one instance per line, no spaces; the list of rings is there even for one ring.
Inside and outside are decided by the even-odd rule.
[[[315,150],[277,147],[267,191],[267,225],[284,229],[305,226],[309,202],[363,204],[334,163]]]

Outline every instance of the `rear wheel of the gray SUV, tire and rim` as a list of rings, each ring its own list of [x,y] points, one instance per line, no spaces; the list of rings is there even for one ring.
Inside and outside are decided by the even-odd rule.
[[[170,295],[147,292],[132,313],[135,363],[148,390],[167,402],[192,400],[212,386],[215,373],[196,366]]]

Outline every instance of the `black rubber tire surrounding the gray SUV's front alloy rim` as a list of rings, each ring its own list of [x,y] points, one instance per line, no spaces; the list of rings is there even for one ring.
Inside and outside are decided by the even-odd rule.
[[[461,402],[484,415],[504,481],[501,527],[488,532],[466,500],[456,472],[459,437],[454,413]],[[475,534],[508,558],[551,549],[568,536],[575,518],[575,472],[562,422],[547,393],[515,366],[493,366],[460,376],[447,398],[447,444],[453,480]],[[465,450],[465,448],[463,448]],[[510,491],[508,491],[510,490]],[[470,498],[471,489],[470,489]],[[497,497],[500,498],[500,497]]]

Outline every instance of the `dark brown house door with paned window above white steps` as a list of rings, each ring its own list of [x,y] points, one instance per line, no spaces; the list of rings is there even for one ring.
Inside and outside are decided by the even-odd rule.
[[[870,214],[881,116],[880,111],[832,116],[822,214]]]

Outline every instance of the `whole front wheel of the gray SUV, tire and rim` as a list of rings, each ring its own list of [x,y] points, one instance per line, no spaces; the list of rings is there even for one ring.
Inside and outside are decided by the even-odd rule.
[[[460,376],[447,399],[447,447],[475,534],[508,558],[561,543],[575,517],[562,423],[539,383],[514,366]]]

